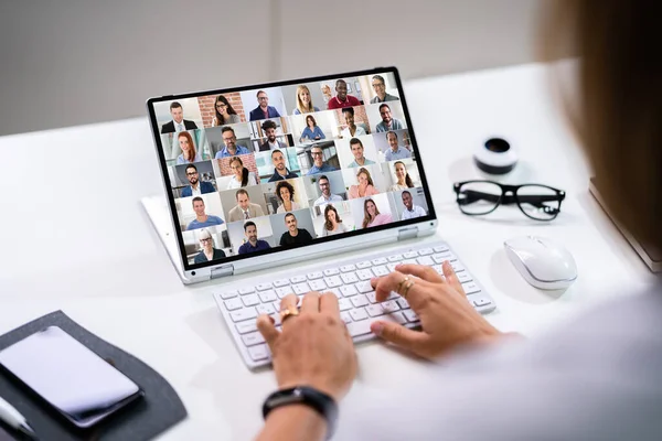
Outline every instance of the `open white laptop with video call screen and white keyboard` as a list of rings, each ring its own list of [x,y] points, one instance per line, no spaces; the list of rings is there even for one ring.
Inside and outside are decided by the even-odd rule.
[[[214,298],[247,366],[270,363],[255,327],[288,293],[331,291],[354,341],[370,323],[419,325],[372,277],[450,260],[480,312],[493,300],[440,241],[423,158],[395,67],[151,98],[167,197],[143,205],[183,283]],[[380,245],[392,244],[384,251]],[[343,252],[364,250],[361,258]],[[337,256],[333,265],[316,259]],[[305,263],[301,263],[305,262]],[[232,276],[274,268],[241,282]],[[280,268],[277,268],[280,267]]]

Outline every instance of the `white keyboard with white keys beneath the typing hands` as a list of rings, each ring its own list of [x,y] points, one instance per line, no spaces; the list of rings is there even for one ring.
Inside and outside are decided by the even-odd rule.
[[[301,299],[309,291],[334,293],[350,335],[354,342],[362,342],[375,337],[370,325],[377,320],[391,320],[407,327],[420,324],[407,301],[397,293],[391,292],[386,301],[377,302],[370,279],[386,276],[401,263],[425,265],[442,273],[441,262],[445,260],[452,265],[467,301],[480,313],[494,310],[494,301],[445,243],[395,248],[340,263],[327,263],[325,268],[312,267],[306,271],[267,276],[253,283],[243,281],[224,286],[214,292],[214,299],[244,362],[254,368],[270,363],[269,349],[257,331],[256,319],[259,314],[270,314],[279,327],[280,299],[287,294],[295,293]]]

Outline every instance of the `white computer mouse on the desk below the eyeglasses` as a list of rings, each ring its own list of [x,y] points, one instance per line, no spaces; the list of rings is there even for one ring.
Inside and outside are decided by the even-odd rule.
[[[575,259],[555,240],[521,236],[504,241],[503,246],[520,275],[535,288],[565,289],[577,279]]]

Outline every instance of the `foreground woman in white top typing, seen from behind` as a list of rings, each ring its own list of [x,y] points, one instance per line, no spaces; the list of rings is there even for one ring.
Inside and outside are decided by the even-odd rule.
[[[556,19],[549,22],[546,43],[583,56],[574,95],[581,118],[577,135],[596,175],[605,176],[601,196],[628,232],[662,249],[658,4],[546,4],[560,12],[545,15]],[[545,60],[557,55],[547,53]],[[448,262],[442,270],[444,278],[404,265],[372,282],[381,300],[398,290],[404,275],[416,277],[407,302],[421,318],[423,332],[385,321],[373,323],[372,331],[419,356],[446,358],[444,367],[429,366],[437,380],[405,379],[399,390],[391,387],[381,399],[365,397],[369,405],[359,412],[344,409],[345,419],[360,418],[345,420],[352,439],[662,439],[659,281],[650,291],[605,300],[594,311],[583,308],[576,319],[525,341],[499,332],[477,314]],[[285,297],[280,308],[291,311],[297,301]],[[301,304],[299,315],[286,316],[282,333],[268,315],[258,319],[276,378],[280,387],[306,384],[339,400],[356,375],[356,356],[335,295],[309,293]],[[308,406],[285,406],[268,415],[258,440],[321,440],[327,429]]]

